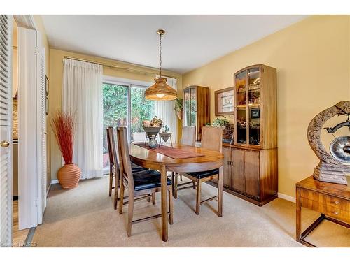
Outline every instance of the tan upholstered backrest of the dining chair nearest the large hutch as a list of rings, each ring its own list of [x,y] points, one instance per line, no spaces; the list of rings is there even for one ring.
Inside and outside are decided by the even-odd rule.
[[[223,152],[223,129],[215,126],[203,126],[202,147],[208,150]]]

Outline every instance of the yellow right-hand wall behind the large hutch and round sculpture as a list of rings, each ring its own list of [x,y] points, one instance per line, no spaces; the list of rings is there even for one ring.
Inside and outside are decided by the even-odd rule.
[[[295,196],[295,182],[312,175],[318,163],[307,142],[311,119],[350,100],[349,23],[349,16],[308,17],[183,75],[183,87],[211,88],[212,121],[214,90],[232,87],[235,72],[252,64],[277,68],[281,194]],[[331,139],[329,134],[323,136]]]

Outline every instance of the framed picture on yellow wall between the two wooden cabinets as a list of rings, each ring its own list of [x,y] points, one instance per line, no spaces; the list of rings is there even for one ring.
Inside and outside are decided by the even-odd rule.
[[[235,102],[233,99],[234,89],[228,87],[215,92],[215,115],[233,115]]]

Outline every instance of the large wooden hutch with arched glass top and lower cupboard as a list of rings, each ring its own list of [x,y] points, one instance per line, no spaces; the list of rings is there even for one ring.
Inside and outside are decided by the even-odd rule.
[[[276,68],[248,66],[234,83],[235,139],[223,143],[223,186],[261,206],[277,197]]]

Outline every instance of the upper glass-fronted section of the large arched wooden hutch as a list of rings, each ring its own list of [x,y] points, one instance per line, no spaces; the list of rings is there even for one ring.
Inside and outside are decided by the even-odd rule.
[[[276,68],[249,66],[235,73],[235,144],[277,147]]]

